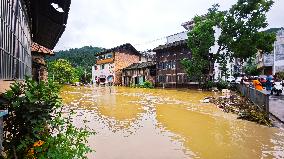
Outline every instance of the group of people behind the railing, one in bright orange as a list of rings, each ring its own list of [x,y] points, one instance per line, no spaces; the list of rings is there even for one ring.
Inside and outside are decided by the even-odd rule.
[[[267,91],[272,91],[272,87],[274,82],[281,82],[281,80],[277,77],[273,77],[272,75],[267,76],[266,78],[261,77],[243,77],[241,80],[241,84],[245,84],[250,87],[254,87],[256,90],[262,91],[266,89]],[[271,92],[272,93],[272,92]]]

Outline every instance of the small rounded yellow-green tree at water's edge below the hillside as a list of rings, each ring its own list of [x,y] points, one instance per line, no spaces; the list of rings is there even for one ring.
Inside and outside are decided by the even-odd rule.
[[[65,59],[58,59],[48,63],[49,78],[54,81],[63,83],[72,83],[76,81],[75,68]]]

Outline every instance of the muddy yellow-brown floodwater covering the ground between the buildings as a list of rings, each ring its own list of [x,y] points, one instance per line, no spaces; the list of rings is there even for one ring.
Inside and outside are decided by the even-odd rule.
[[[284,158],[284,131],[236,119],[212,92],[125,87],[62,88],[75,124],[96,131],[96,159]]]

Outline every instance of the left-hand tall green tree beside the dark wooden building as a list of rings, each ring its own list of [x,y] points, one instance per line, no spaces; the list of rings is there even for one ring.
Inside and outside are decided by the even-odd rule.
[[[189,78],[199,82],[210,80],[214,62],[211,47],[215,44],[214,27],[219,26],[224,18],[224,12],[218,11],[219,5],[213,5],[206,16],[195,16],[194,27],[188,33],[188,47],[192,58],[183,59],[181,64],[186,70]]]

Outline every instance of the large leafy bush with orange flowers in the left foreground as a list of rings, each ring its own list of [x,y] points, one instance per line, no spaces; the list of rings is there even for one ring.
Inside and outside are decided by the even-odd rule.
[[[85,158],[92,150],[85,144],[93,132],[72,125],[62,117],[59,86],[26,78],[14,83],[4,95],[0,109],[4,120],[5,158]]]

